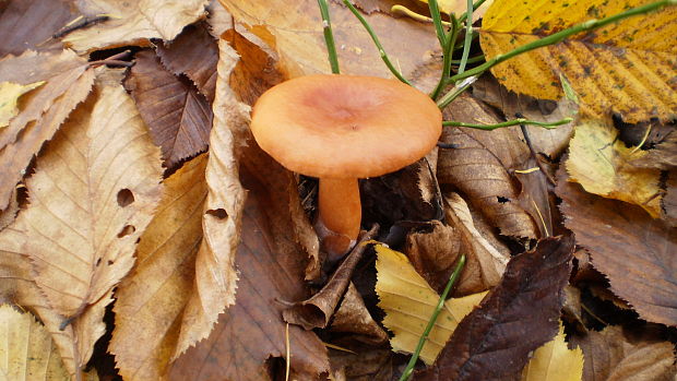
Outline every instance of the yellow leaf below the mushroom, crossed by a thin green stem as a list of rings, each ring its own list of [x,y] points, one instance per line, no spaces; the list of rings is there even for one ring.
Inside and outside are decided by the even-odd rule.
[[[380,299],[379,307],[385,311],[383,325],[395,334],[390,340],[390,345],[393,350],[413,353],[440,296],[416,273],[403,253],[383,245],[377,245],[376,251],[376,291]],[[485,291],[447,300],[420,352],[424,362],[435,362],[461,320],[486,294]]]

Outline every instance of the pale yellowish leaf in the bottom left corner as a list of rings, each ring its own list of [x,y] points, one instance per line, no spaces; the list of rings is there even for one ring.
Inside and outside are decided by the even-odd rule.
[[[0,374],[4,380],[64,380],[68,372],[49,332],[31,313],[0,306]]]

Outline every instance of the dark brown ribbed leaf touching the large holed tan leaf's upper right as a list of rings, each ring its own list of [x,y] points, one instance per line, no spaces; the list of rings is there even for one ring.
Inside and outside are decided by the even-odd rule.
[[[165,70],[153,51],[136,53],[135,62],[124,85],[161,146],[165,165],[175,168],[209,146],[212,109],[192,84]]]

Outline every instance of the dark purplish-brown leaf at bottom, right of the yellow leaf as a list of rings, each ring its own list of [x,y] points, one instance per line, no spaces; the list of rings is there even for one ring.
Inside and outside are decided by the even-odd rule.
[[[557,333],[573,237],[544,238],[513,257],[501,283],[459,324],[417,380],[516,379],[528,354]],[[497,366],[499,365],[499,366]]]

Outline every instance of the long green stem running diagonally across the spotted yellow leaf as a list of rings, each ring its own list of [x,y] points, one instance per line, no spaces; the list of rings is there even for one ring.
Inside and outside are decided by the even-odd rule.
[[[566,39],[569,36],[582,33],[582,32],[587,32],[587,31],[592,31],[615,22],[618,22],[620,20],[623,19],[628,19],[631,16],[636,16],[636,15],[640,15],[640,14],[644,14],[644,13],[649,13],[652,11],[656,11],[665,5],[674,5],[677,4],[677,0],[663,0],[663,1],[657,1],[657,2],[653,2],[651,4],[645,4],[642,7],[637,7],[637,8],[632,8],[630,10],[627,10],[625,12],[615,14],[613,16],[608,16],[606,19],[602,19],[602,20],[589,20],[584,23],[581,24],[577,24],[568,29],[563,29],[561,32],[555,33],[553,35],[549,35],[547,37],[543,37],[538,40],[525,44],[514,50],[511,50],[504,55],[498,55],[496,57],[494,57],[492,59],[488,60],[487,62],[473,68],[468,71],[465,71],[463,73],[459,73],[456,75],[453,75],[449,79],[449,83],[454,83],[459,80],[463,80],[466,79],[468,76],[473,76],[473,75],[479,75],[482,73],[484,73],[485,71],[487,71],[488,69],[494,68],[495,66],[509,60],[515,56],[519,56],[523,52],[527,52],[534,49],[538,49],[548,45],[554,45],[554,44],[558,44],[561,43],[563,39]]]

